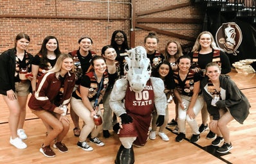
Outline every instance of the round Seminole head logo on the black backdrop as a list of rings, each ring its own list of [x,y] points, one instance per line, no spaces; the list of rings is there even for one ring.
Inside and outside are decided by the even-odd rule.
[[[242,31],[235,22],[223,23],[216,33],[217,45],[226,53],[237,55],[237,48],[242,42]]]

